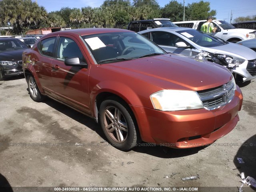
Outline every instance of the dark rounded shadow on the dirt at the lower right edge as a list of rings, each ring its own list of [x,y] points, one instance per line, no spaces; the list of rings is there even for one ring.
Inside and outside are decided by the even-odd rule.
[[[233,162],[240,174],[244,172],[245,178],[250,176],[256,180],[256,135],[241,144]],[[251,188],[256,191],[256,188]]]

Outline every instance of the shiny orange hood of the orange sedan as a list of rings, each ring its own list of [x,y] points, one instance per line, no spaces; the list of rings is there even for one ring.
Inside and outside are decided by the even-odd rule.
[[[176,54],[151,56],[102,66],[163,89],[205,90],[229,82],[232,76],[226,68],[218,64]]]

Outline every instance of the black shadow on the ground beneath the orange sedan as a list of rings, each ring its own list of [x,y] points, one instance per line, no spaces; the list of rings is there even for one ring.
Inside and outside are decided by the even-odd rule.
[[[104,132],[102,131],[102,128],[100,127],[100,124],[98,124],[94,119],[80,112],[77,112],[76,110],[69,108],[64,104],[56,102],[53,99],[46,98],[43,102],[48,106],[54,108],[55,110],[59,111],[60,113],[65,114],[66,116],[74,119],[80,124],[83,124],[84,126],[87,126],[91,130],[95,131],[102,138],[102,140],[104,141],[107,140],[107,138],[104,135]],[[175,148],[169,148],[166,146],[160,146],[155,144],[149,144],[146,142],[141,142],[136,147],[132,148],[132,150],[130,151],[149,154],[159,158],[178,158],[178,157],[184,157],[184,156],[196,154],[200,150],[204,150],[204,148],[206,148],[206,146],[188,148],[188,149],[175,149]]]

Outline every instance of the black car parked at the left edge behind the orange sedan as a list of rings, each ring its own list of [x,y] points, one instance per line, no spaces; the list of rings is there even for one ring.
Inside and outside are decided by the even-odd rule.
[[[22,52],[28,46],[15,38],[0,38],[0,80],[22,75]]]

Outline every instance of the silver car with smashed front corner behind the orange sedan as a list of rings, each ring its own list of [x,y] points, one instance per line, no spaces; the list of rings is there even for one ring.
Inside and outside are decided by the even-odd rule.
[[[191,28],[154,28],[138,32],[167,52],[218,63],[233,72],[236,82],[256,78],[256,52]]]

